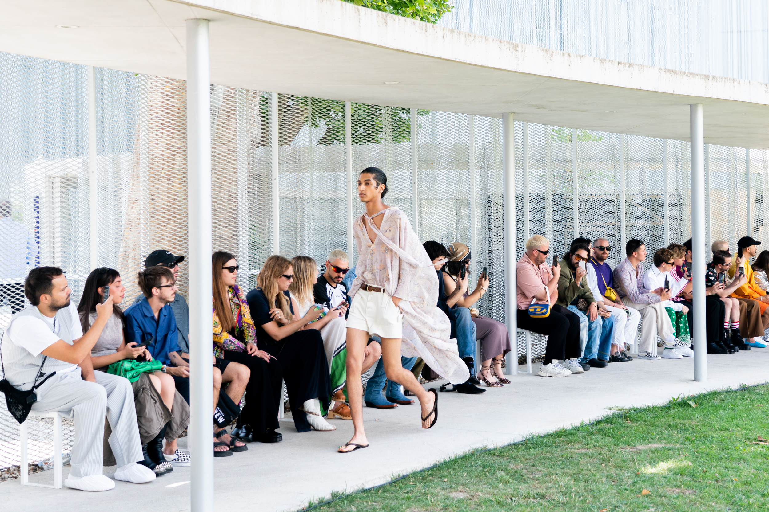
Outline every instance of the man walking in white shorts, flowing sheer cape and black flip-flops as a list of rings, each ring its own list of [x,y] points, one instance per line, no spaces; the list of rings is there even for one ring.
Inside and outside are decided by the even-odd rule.
[[[355,296],[347,320],[347,392],[352,424],[350,442],[339,448],[350,453],[366,448],[363,429],[361,368],[369,335],[381,337],[384,372],[419,400],[422,428],[438,420],[438,392],[424,391],[417,378],[401,365],[403,355],[418,355],[452,384],[468,380],[467,365],[456,343],[449,341],[451,324],[438,303],[438,276],[419,243],[406,214],[382,203],[387,177],[367,167],[358,177],[358,197],[366,213],[355,219],[358,243],[356,278],[349,291]]]

